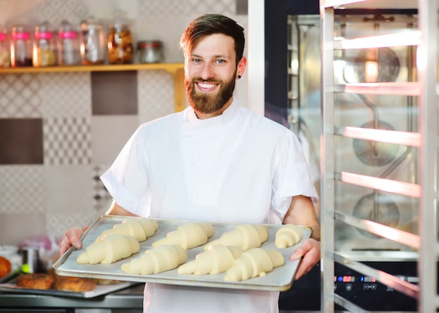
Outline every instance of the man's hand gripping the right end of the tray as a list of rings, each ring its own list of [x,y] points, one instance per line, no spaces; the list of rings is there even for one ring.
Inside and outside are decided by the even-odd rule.
[[[320,241],[316,239],[306,239],[302,244],[290,255],[290,260],[295,261],[302,257],[302,262],[297,268],[295,280],[309,272],[318,261],[320,261]]]

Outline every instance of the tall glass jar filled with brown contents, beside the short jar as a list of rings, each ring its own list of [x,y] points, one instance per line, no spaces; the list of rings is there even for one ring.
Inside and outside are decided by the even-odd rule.
[[[107,35],[109,64],[130,64],[133,62],[133,36],[126,22],[109,25]]]

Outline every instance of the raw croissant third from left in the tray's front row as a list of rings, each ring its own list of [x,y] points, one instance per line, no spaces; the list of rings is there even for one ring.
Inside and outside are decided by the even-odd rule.
[[[178,267],[178,274],[219,274],[226,272],[236,258],[243,254],[243,250],[234,246],[217,244],[208,251],[196,255],[195,260]]]

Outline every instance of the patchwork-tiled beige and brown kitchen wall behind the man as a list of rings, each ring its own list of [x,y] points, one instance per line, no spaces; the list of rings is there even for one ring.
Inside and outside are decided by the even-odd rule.
[[[247,28],[237,1],[0,0],[0,25],[111,21],[122,9],[135,42],[159,39],[166,62],[182,62],[177,43],[197,15],[222,13]],[[173,76],[160,70],[0,73],[0,94],[0,246],[89,225],[111,202],[99,175],[139,124],[174,109]]]

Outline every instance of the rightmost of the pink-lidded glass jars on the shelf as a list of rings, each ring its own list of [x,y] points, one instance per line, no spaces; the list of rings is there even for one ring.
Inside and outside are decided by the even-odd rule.
[[[67,22],[67,20],[63,20],[60,27],[58,27],[58,64],[81,64],[79,34],[75,27]]]

